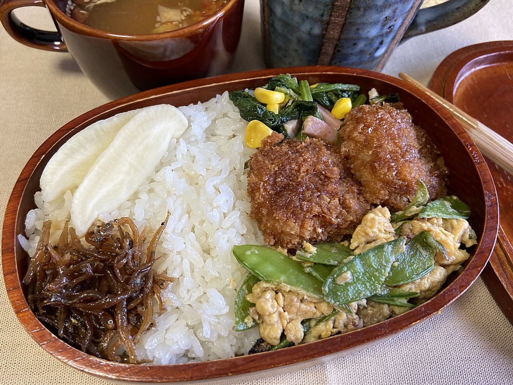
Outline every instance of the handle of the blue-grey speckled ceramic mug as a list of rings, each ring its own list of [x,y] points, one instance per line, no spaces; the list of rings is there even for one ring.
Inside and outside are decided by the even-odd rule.
[[[472,16],[490,0],[447,0],[442,4],[419,10],[403,35],[402,42],[410,37],[455,25]]]

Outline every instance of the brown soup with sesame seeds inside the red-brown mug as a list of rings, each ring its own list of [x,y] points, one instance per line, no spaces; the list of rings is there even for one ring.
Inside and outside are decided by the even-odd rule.
[[[224,4],[226,0],[69,0],[66,14],[95,29],[139,35],[187,27]]]

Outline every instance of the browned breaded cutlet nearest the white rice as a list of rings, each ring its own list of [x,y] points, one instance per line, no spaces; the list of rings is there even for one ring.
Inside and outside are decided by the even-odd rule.
[[[265,242],[293,248],[351,234],[369,203],[339,147],[282,139],[278,133],[265,138],[249,162],[250,216]]]

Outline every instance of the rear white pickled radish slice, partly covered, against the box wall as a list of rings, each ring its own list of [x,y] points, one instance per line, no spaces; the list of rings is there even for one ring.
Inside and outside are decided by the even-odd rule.
[[[91,124],[74,134],[50,158],[40,179],[43,199],[48,204],[61,200],[67,190],[75,189],[117,132],[139,110],[131,110]]]

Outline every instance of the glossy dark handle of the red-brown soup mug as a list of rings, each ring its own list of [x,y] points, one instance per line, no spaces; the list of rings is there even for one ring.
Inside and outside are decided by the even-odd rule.
[[[13,11],[22,7],[46,7],[46,5],[42,0],[4,0],[1,2],[0,20],[14,40],[33,48],[52,51],[68,50],[60,32],[32,28],[19,20]]]

